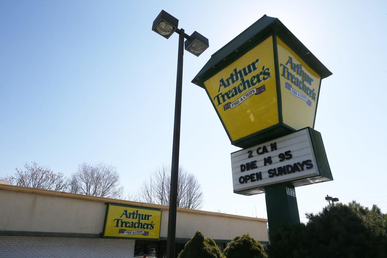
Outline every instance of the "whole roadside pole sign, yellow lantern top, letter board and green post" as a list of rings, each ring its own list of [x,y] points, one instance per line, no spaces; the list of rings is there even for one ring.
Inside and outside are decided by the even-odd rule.
[[[300,222],[296,186],[333,180],[315,131],[321,80],[332,73],[279,21],[264,15],[214,53],[192,80],[231,144],[234,193],[265,193],[271,235]]]

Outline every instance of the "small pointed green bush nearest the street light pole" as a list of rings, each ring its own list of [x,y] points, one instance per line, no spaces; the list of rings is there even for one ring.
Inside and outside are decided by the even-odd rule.
[[[185,244],[178,258],[224,258],[214,240],[196,231],[190,241]]]

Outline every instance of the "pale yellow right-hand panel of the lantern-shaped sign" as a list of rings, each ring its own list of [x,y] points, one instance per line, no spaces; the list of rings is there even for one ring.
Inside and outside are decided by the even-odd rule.
[[[321,77],[277,37],[283,122],[313,128]]]

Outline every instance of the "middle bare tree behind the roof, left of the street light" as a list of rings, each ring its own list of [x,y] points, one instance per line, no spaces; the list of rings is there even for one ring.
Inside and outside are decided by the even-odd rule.
[[[123,197],[123,186],[120,186],[120,175],[116,167],[103,163],[79,164],[77,172],[69,179],[68,190],[99,197]]]

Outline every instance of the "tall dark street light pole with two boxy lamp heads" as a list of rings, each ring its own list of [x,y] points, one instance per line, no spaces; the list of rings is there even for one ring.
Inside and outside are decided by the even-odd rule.
[[[171,166],[171,190],[170,206],[168,215],[168,236],[167,236],[167,258],[175,256],[175,238],[176,238],[176,208],[177,208],[177,182],[179,169],[179,149],[180,149],[180,118],[182,113],[182,84],[183,84],[183,52],[184,39],[185,49],[199,56],[209,47],[208,39],[197,31],[188,36],[184,29],[178,29],[179,20],[161,10],[152,25],[152,31],[168,39],[176,32],[179,34],[179,46],[177,55],[177,76],[176,76],[176,97],[175,97],[175,122],[173,126],[173,145],[172,145],[172,166]]]

